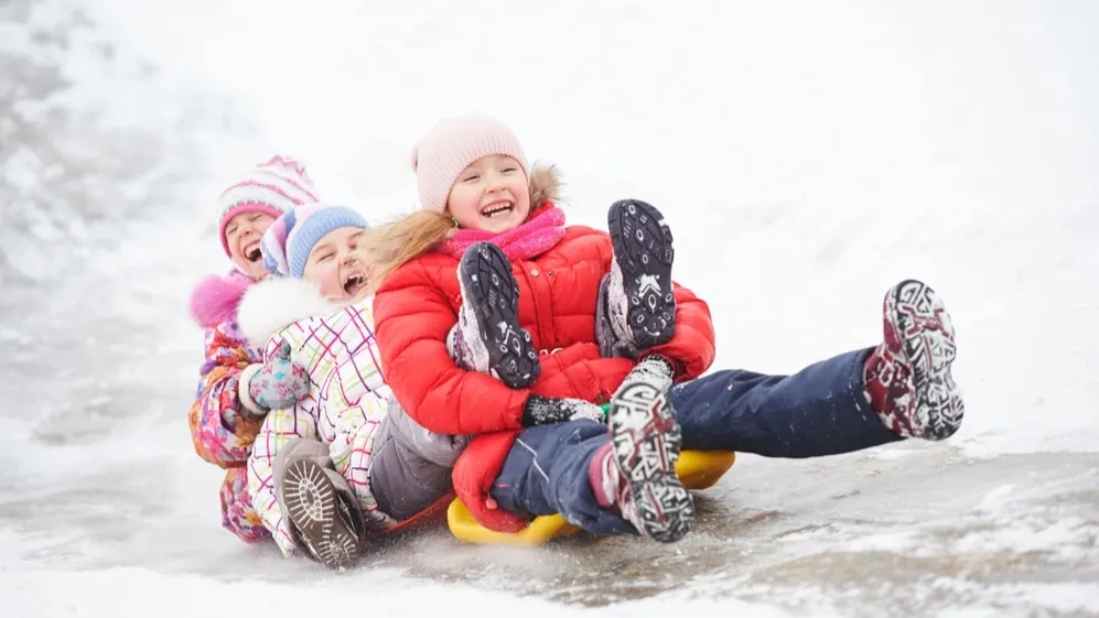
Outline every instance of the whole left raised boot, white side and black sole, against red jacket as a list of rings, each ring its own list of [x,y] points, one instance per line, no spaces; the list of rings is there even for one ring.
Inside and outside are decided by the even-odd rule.
[[[457,268],[462,306],[446,338],[463,369],[495,376],[513,389],[527,388],[541,373],[530,333],[519,326],[519,284],[498,247],[477,242]]]

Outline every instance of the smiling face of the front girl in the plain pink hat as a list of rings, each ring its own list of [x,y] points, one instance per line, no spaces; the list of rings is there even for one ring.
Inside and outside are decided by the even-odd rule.
[[[446,209],[465,229],[492,234],[515,229],[530,214],[527,174],[510,156],[483,156],[457,175]]]

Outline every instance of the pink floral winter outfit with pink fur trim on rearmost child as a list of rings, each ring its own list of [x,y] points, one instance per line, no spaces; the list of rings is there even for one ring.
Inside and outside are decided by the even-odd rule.
[[[245,467],[263,419],[250,414],[237,395],[240,373],[260,361],[259,350],[248,345],[236,322],[240,299],[252,283],[233,270],[225,277],[206,278],[191,294],[191,315],[205,329],[206,358],[187,415],[195,452],[226,470],[222,525],[249,542],[270,538],[251,506]]]

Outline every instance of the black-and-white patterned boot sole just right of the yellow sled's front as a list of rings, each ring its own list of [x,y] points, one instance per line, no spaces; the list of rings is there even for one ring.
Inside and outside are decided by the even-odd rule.
[[[682,432],[667,393],[653,384],[624,384],[611,399],[612,453],[629,488],[643,535],[682,539],[694,523],[694,502],[676,476]]]

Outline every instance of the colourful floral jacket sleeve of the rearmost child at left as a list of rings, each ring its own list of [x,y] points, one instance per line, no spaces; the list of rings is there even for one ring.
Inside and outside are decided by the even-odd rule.
[[[223,468],[247,460],[262,422],[261,416],[248,413],[237,394],[241,375],[252,359],[245,341],[230,334],[234,329],[230,323],[206,329],[206,359],[187,414],[195,452]]]

